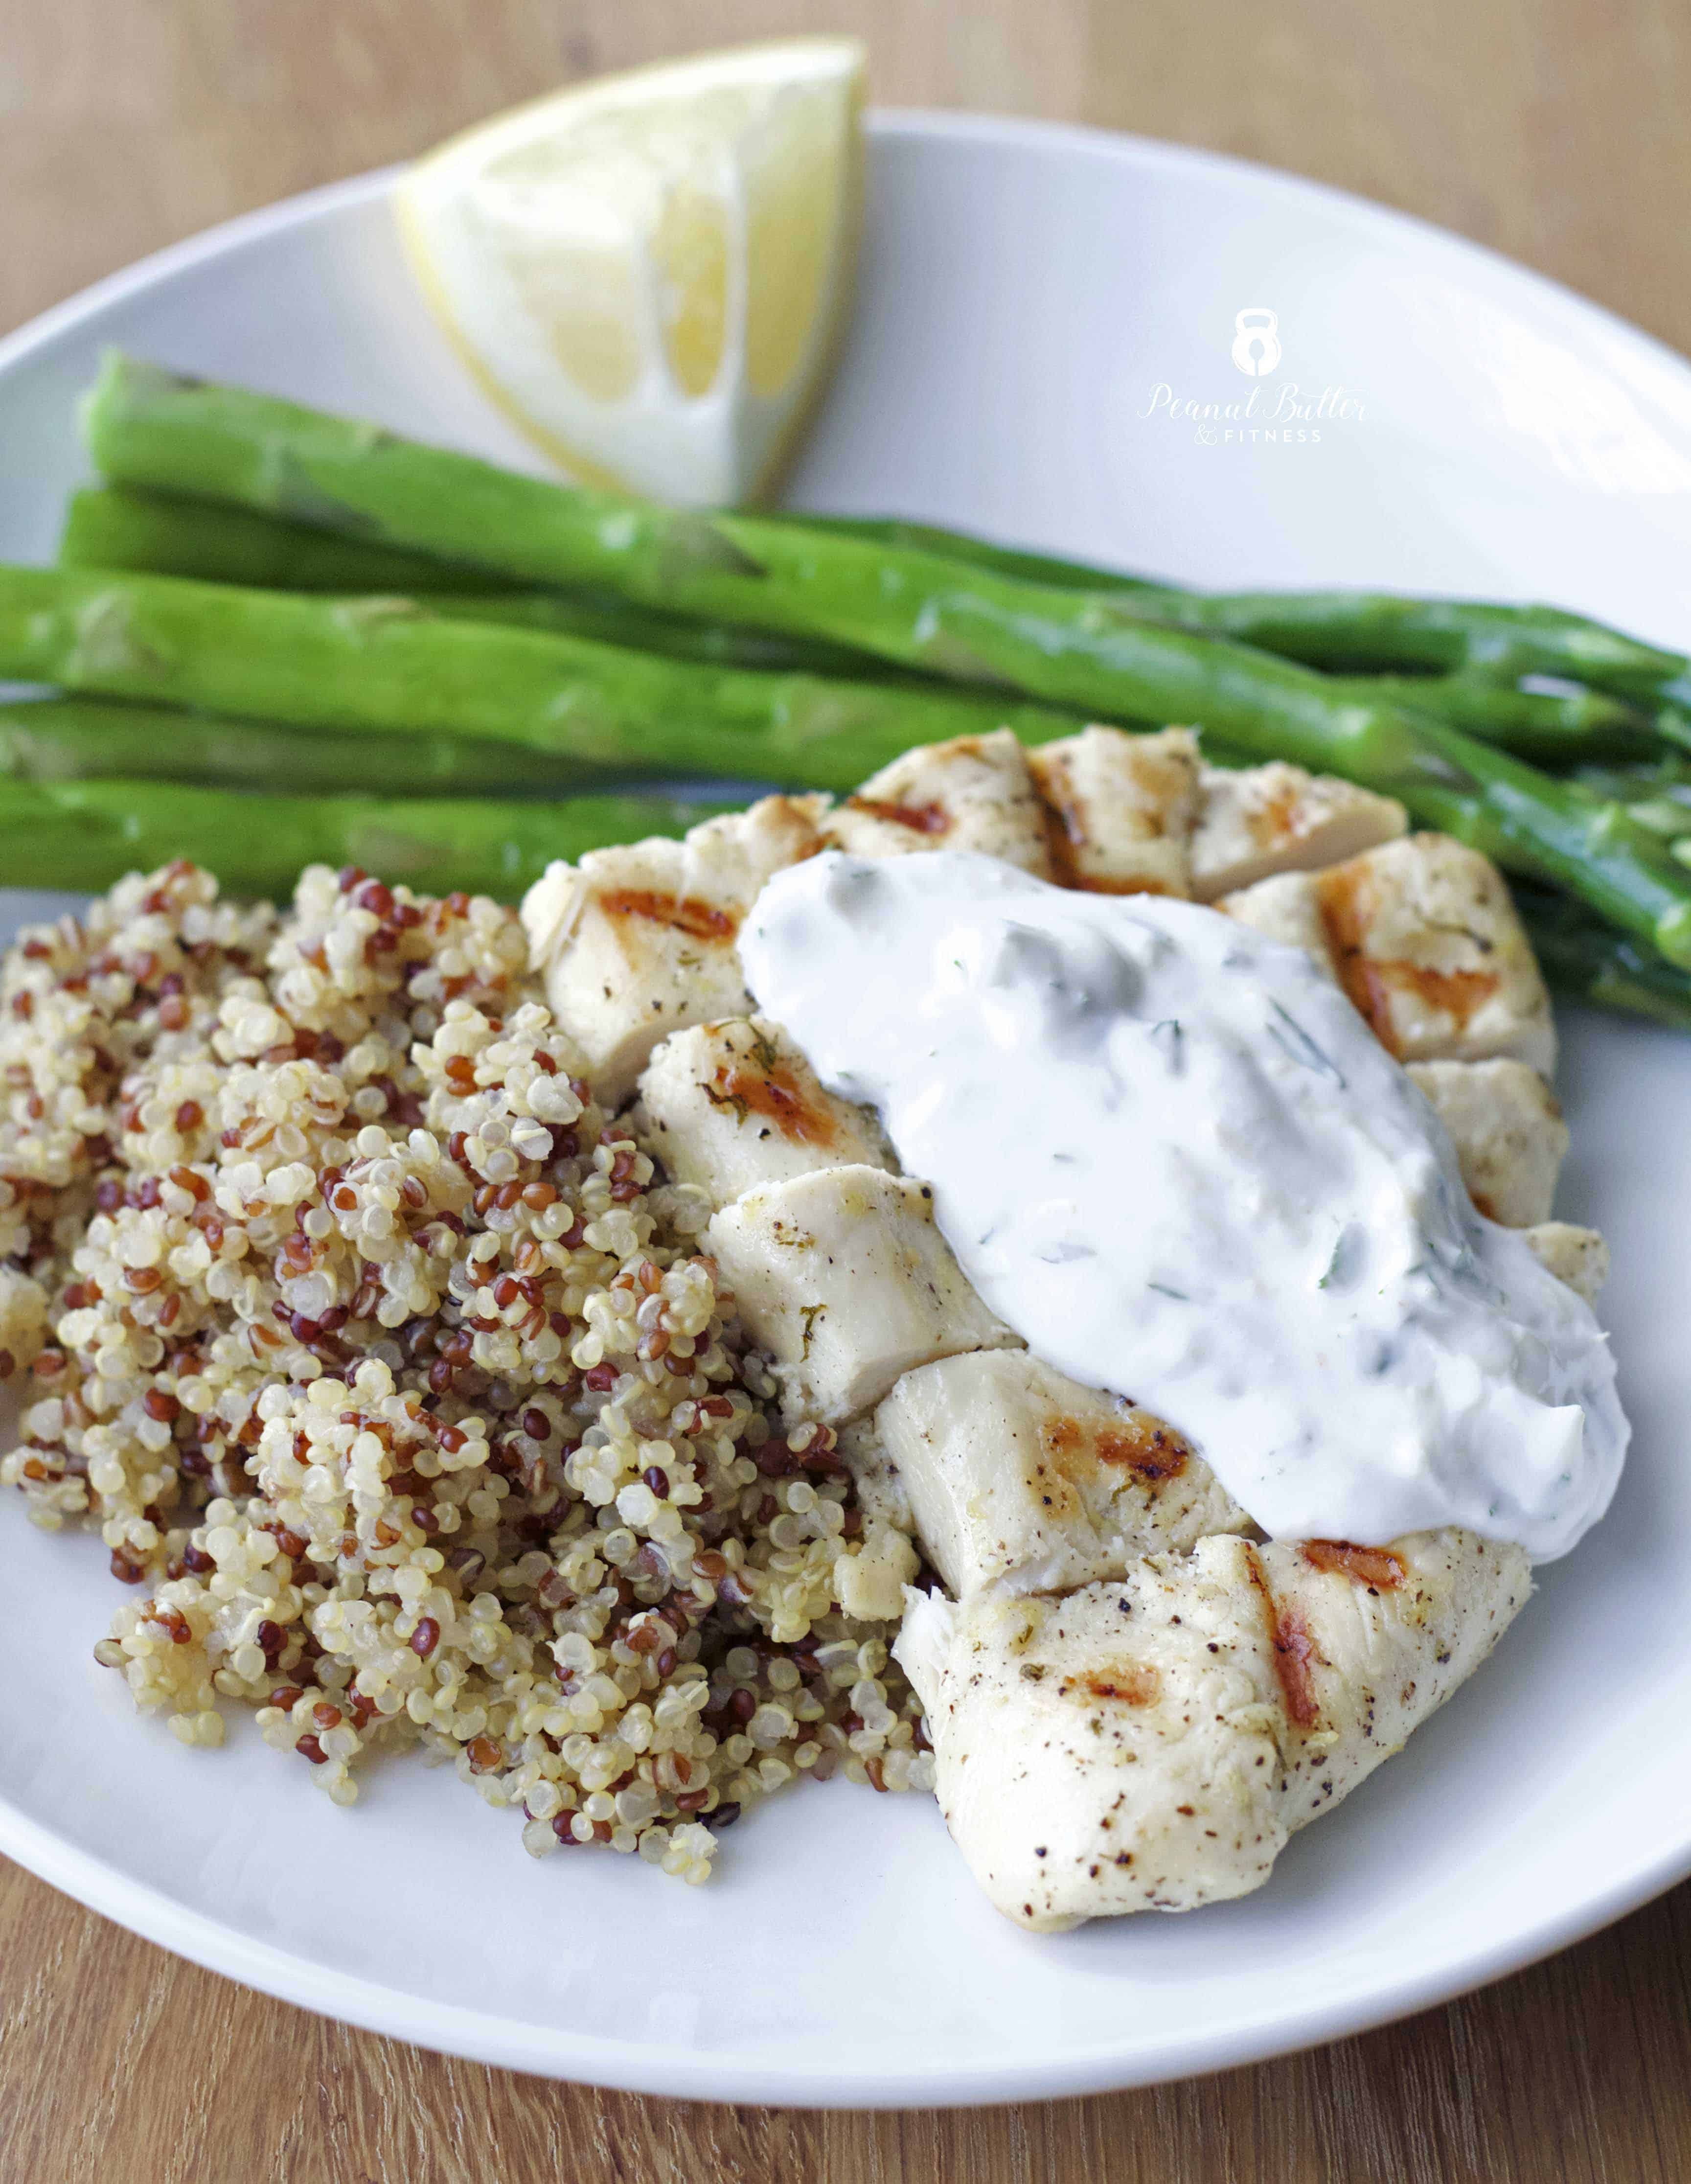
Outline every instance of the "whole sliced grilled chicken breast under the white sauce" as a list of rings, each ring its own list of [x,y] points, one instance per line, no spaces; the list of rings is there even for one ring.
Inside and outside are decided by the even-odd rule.
[[[841,1433],[870,1524],[848,1610],[898,1614],[907,1524],[948,1588],[902,1592],[896,1651],[985,1894],[1040,1931],[1239,1896],[1479,1666],[1527,1557],[1457,1529],[1265,1542],[1180,1433],[988,1313],[874,1116],[752,1013],[741,919],[830,845],[1193,895],[1309,950],[1411,1068],[1479,1210],[1593,1295],[1601,1238],[1549,1219],[1566,1127],[1532,948],[1477,852],[1298,767],[1204,767],[1186,729],[959,738],[839,806],[769,797],[557,865],[524,902],[599,1096],[638,1079],[642,1142],[717,1206],[706,1247],[787,1417]]]

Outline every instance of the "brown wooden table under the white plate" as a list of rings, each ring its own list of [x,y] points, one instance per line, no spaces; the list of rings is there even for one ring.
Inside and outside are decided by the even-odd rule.
[[[870,37],[885,100],[1081,118],[1298,168],[1691,349],[1691,13],[1676,0],[0,0],[0,330],[159,242],[564,79],[841,26]],[[1687,1961],[1680,1889],[1466,2003],[1232,2077],[806,2116],[444,2062],[177,1963],[0,1863],[0,2175],[1684,2184]]]

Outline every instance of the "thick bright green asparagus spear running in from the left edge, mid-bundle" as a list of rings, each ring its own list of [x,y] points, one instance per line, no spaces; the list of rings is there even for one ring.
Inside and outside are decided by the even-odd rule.
[[[0,566],[0,677],[354,734],[448,734],[618,771],[854,788],[913,743],[1073,719],[983,695],[760,675],[184,577]],[[347,780],[358,758],[347,753]]]

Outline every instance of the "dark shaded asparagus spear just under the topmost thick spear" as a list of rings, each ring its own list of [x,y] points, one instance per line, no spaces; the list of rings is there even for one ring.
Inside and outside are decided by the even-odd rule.
[[[614,592],[524,592],[502,585],[487,570],[310,531],[251,509],[118,485],[87,485],[70,496],[59,566],[199,577],[205,583],[280,592],[404,594],[426,598],[437,614],[553,629],[559,636],[721,666],[806,675],[863,675],[878,668],[878,662],[839,644],[690,622],[634,607]]]

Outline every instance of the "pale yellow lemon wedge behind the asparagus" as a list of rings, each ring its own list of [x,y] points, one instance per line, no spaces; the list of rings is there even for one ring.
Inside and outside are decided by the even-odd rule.
[[[861,103],[848,37],[601,76],[413,166],[406,251],[470,369],[568,472],[756,498],[846,319]]]

